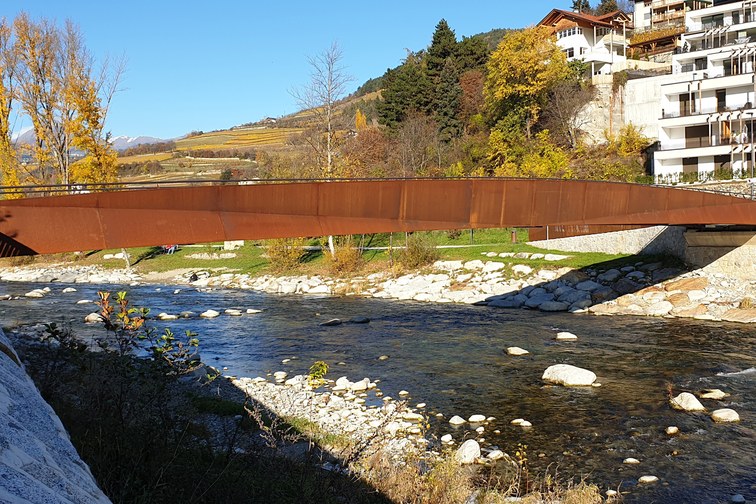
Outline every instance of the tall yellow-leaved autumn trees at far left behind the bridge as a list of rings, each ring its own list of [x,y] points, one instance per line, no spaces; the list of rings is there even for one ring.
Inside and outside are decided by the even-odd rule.
[[[105,118],[123,63],[98,71],[71,22],[64,28],[21,13],[0,30],[0,156],[3,185],[102,183],[116,180],[116,155]],[[34,128],[34,162],[22,172],[10,140],[11,107]],[[72,150],[85,157],[72,164]],[[7,157],[7,159],[5,159]]]

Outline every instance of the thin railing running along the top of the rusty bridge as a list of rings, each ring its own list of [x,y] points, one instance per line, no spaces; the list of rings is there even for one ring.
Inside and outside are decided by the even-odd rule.
[[[255,184],[294,184],[294,183],[312,183],[312,182],[380,182],[380,181],[405,181],[405,180],[531,180],[522,177],[393,177],[393,178],[281,178],[281,179],[243,179],[243,180],[214,180],[214,179],[196,179],[196,180],[160,180],[160,181],[142,181],[142,182],[115,182],[115,183],[80,183],[80,184],[40,184],[40,185],[19,185],[19,186],[0,186],[0,199],[7,199],[9,196],[21,195],[24,198],[61,196],[70,194],[88,194],[96,192],[110,191],[133,191],[143,189],[165,189],[172,187],[200,187],[200,186],[229,186],[229,185],[255,185]],[[563,180],[563,179],[542,179],[542,180]],[[603,180],[588,180],[593,183],[614,182]],[[668,185],[650,184],[651,187],[669,188]],[[741,191],[729,191],[719,188],[709,188],[705,186],[674,186],[676,189],[687,191],[700,191],[714,194],[722,194],[738,198],[756,200],[756,179],[748,183],[748,188]]]

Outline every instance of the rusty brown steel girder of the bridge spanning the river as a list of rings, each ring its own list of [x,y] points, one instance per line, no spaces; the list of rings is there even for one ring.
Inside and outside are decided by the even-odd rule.
[[[670,187],[399,179],[174,187],[0,202],[0,256],[397,231],[756,225],[756,201]]]

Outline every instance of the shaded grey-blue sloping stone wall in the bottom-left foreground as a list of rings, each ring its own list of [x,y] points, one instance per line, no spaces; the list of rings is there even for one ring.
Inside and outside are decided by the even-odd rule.
[[[110,502],[2,330],[0,502]]]

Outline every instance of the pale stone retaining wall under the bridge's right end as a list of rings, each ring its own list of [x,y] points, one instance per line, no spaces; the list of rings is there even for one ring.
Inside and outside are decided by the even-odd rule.
[[[632,231],[573,236],[530,242],[531,245],[564,252],[606,254],[664,254],[685,257],[684,227],[654,226]]]

